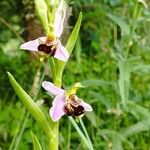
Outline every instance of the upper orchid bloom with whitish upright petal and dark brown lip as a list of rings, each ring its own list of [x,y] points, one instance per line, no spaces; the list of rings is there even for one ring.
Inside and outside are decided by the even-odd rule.
[[[55,13],[53,23],[54,35],[48,37],[39,37],[35,40],[28,41],[20,46],[20,49],[30,50],[35,52],[44,52],[52,57],[67,61],[69,53],[58,39],[63,32],[63,25],[66,16],[66,7],[63,5],[63,0],[60,1],[58,9]]]

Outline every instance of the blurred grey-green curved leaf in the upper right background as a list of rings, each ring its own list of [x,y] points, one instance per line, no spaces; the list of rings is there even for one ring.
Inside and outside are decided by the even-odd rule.
[[[108,13],[107,16],[114,22],[116,23],[120,29],[121,29],[121,34],[123,36],[129,36],[130,34],[130,28],[128,26],[128,24],[122,19],[119,18],[113,14]]]

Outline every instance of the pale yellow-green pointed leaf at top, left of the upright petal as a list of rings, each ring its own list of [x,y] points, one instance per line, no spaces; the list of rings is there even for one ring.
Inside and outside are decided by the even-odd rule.
[[[48,25],[48,16],[47,16],[47,4],[45,0],[35,0],[36,12],[41,20],[41,23],[46,31],[49,34],[49,25]]]

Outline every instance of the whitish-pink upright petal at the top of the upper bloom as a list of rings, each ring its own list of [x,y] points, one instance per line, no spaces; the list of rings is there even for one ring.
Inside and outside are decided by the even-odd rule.
[[[66,16],[66,3],[64,2],[64,0],[61,0],[58,9],[56,11],[54,20],[54,33],[57,37],[60,37],[60,35],[63,32],[65,16]]]

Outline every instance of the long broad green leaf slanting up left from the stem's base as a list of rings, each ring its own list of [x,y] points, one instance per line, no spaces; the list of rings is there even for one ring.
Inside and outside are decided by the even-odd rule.
[[[18,95],[18,97],[20,98],[24,106],[28,109],[28,111],[31,113],[33,118],[37,121],[39,126],[48,135],[48,137],[51,137],[53,134],[42,110],[32,100],[32,98],[21,88],[21,86],[16,82],[14,77],[9,72],[7,73],[12,87],[14,88],[16,94]]]

